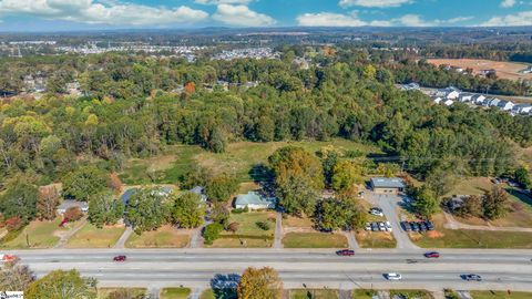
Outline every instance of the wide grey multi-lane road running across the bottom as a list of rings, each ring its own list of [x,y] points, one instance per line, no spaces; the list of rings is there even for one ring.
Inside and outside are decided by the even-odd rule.
[[[232,286],[246,267],[269,266],[279,271],[287,288],[460,288],[532,290],[531,250],[439,250],[426,259],[423,250],[358,249],[354,257],[334,250],[291,249],[88,249],[13,251],[23,264],[43,276],[54,269],[80,270],[104,286]],[[114,262],[115,255],[127,256]],[[401,281],[382,274],[400,272]],[[483,281],[463,281],[461,274],[481,275]],[[227,275],[231,275],[227,277]],[[228,281],[226,281],[228,280]]]

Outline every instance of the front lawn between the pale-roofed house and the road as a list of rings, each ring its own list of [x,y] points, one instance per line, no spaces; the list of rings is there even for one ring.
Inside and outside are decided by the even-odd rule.
[[[260,229],[257,226],[257,221],[268,223],[269,229]],[[222,231],[219,238],[208,247],[272,247],[275,235],[274,212],[231,214],[229,223],[238,223],[238,230],[236,233]]]

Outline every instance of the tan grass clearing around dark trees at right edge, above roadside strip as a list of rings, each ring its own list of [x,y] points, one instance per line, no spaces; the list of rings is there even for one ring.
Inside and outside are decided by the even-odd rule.
[[[487,190],[491,190],[494,184],[489,177],[473,177],[461,181],[446,196],[452,195],[482,195]],[[510,205],[505,217],[489,221],[492,226],[502,227],[532,227],[532,198],[516,192],[515,188],[501,184],[509,194]],[[458,218],[459,221],[469,225],[488,225],[488,221],[481,218]]]

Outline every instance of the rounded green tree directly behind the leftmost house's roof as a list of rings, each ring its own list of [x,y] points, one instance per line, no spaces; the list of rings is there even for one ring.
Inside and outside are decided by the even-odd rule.
[[[78,200],[88,200],[108,186],[109,174],[95,166],[82,166],[63,177],[63,195]]]

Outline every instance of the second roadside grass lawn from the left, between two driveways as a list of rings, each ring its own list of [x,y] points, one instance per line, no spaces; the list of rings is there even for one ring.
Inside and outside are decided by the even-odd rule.
[[[66,248],[111,248],[124,233],[124,226],[98,228],[86,224],[66,243]]]

